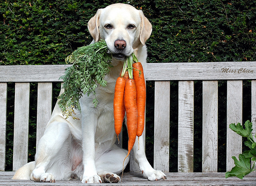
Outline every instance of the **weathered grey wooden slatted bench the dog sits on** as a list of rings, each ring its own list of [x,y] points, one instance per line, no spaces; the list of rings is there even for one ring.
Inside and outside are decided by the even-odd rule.
[[[30,82],[38,82],[36,136],[38,141],[52,111],[52,82],[61,81],[64,65],[0,66],[0,184],[45,185],[11,180],[14,172],[5,171],[7,82],[15,82],[13,171],[27,163]],[[228,126],[242,123],[243,80],[251,80],[251,118],[256,131],[256,62],[148,64],[145,78],[155,81],[154,164],[168,179],[148,181],[130,163],[117,185],[255,185],[256,174],[243,180],[225,178],[218,173],[218,80],[227,80],[227,170],[234,166],[231,156],[242,152],[242,137]],[[169,173],[170,81],[178,81],[178,172]],[[193,173],[194,156],[194,80],[203,81],[202,172]],[[146,123],[147,125],[147,123]],[[82,184],[79,180],[59,181],[53,185]],[[48,185],[48,184],[47,184]],[[108,185],[108,184],[104,184]]]

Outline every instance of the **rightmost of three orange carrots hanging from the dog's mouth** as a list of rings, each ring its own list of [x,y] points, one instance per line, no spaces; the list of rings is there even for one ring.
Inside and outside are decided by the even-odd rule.
[[[137,136],[141,136],[144,130],[145,122],[145,104],[146,104],[146,86],[141,63],[133,64],[133,78],[137,90],[137,107],[138,107],[138,129]]]

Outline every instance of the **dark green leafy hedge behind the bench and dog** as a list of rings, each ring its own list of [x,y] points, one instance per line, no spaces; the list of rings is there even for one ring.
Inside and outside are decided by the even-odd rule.
[[[129,3],[153,25],[147,41],[149,63],[255,61],[255,1],[225,0],[3,0],[0,2],[0,64],[64,64],[64,58],[92,37],[87,22],[98,8]],[[55,97],[58,96],[58,84]],[[8,84],[6,170],[12,170],[13,84]],[[36,84],[31,85],[29,160],[35,153]],[[170,171],[177,171],[177,81],[171,82]],[[153,162],[154,83],[147,85],[147,153]],[[249,82],[244,86],[243,118],[250,117]],[[225,172],[226,83],[220,82],[218,170]],[[56,99],[55,99],[56,101]],[[54,104],[54,103],[53,103]],[[202,82],[195,83],[195,144],[202,140]],[[124,133],[125,135],[125,133]],[[124,147],[126,144],[124,144]],[[202,147],[195,146],[194,171],[202,170]],[[152,163],[153,164],[153,163]]]

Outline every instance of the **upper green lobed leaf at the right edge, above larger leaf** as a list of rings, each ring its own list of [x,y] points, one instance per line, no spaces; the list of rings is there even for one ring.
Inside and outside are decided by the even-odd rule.
[[[235,123],[231,123],[229,125],[229,128],[234,131],[235,133],[243,136],[243,137],[249,137],[251,135],[251,131],[252,131],[252,122],[250,122],[249,120],[247,120],[245,122],[245,129],[243,128],[243,126],[241,125],[241,123],[237,123],[237,125],[235,125]]]

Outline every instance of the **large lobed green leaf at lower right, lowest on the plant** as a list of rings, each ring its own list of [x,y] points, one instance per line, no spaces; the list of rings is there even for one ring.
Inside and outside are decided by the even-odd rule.
[[[251,168],[251,159],[245,157],[243,154],[239,155],[239,160],[237,160],[235,156],[232,156],[232,159],[234,160],[235,167],[226,173],[226,178],[236,176],[237,178],[243,179],[245,175],[254,171],[253,168]]]

